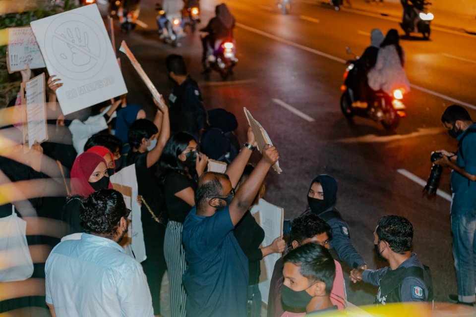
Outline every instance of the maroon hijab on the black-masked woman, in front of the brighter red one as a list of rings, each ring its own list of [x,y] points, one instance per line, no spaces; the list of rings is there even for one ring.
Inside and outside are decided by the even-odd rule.
[[[86,198],[95,192],[88,180],[101,162],[106,164],[102,156],[91,152],[84,152],[74,160],[71,168],[71,196],[79,195]],[[109,182],[108,188],[113,188],[111,182]]]

